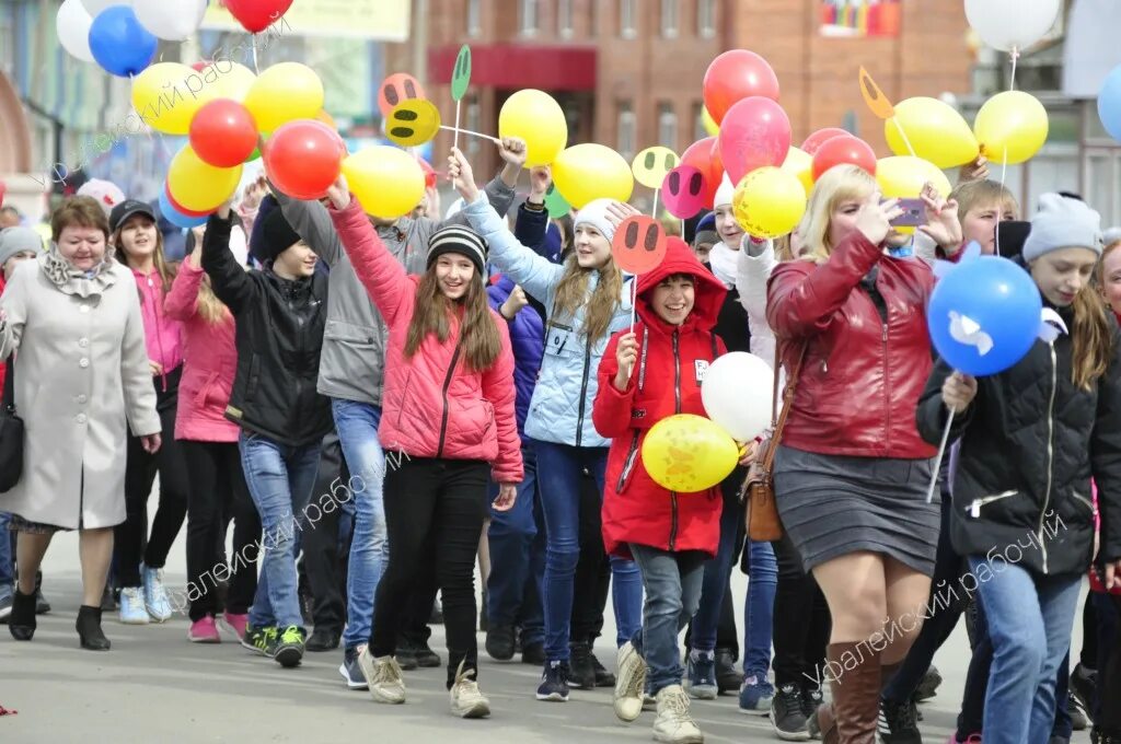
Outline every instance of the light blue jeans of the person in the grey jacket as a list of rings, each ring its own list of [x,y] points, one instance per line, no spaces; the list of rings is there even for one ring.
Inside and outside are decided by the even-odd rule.
[[[353,649],[370,638],[374,594],[389,562],[389,533],[382,500],[386,454],[378,439],[381,408],[332,398],[331,412],[351,474],[345,485],[354,494],[354,532],[346,573],[346,630],[343,631],[343,645]]]

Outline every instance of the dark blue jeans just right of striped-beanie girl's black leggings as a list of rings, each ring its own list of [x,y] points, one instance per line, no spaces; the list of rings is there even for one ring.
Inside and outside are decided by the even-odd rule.
[[[491,510],[487,531],[491,554],[487,615],[491,626],[520,625],[525,648],[545,642],[545,610],[541,606],[545,522],[540,489],[537,487],[537,456],[529,440],[521,445],[521,462],[526,475],[518,485],[513,509],[507,512]],[[497,486],[493,490],[497,491]]]

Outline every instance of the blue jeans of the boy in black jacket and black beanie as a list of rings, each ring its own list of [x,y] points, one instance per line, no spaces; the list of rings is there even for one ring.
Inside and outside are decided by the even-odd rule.
[[[319,467],[319,443],[281,445],[258,434],[241,433],[241,467],[261,515],[261,578],[257,583],[249,624],[253,627],[303,627],[297,597],[296,551],[299,532],[309,523],[308,500]]]

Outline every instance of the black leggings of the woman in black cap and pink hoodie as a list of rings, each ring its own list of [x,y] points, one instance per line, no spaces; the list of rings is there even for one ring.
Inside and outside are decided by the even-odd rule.
[[[167,376],[154,378],[159,410],[163,444],[155,455],[143,450],[140,437],[129,435],[128,461],[124,466],[124,521],[113,531],[113,567],[117,586],[140,586],[140,562],[148,568],[163,568],[183,520],[187,515],[187,466],[183,449],[175,440],[175,407],[179,373],[176,368]],[[148,532],[148,496],[159,473],[159,509]],[[146,547],[147,538],[147,547]]]

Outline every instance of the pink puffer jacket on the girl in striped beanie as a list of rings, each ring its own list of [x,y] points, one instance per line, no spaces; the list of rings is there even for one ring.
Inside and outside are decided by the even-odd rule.
[[[458,317],[445,342],[433,334],[411,359],[405,341],[420,277],[408,276],[386,250],[358,199],[331,210],[359,280],[389,326],[386,382],[378,438],[387,450],[413,457],[491,463],[495,483],[520,483],[521,441],[515,418],[513,352],[507,324],[490,310],[502,351],[490,369],[467,369],[460,356]]]

